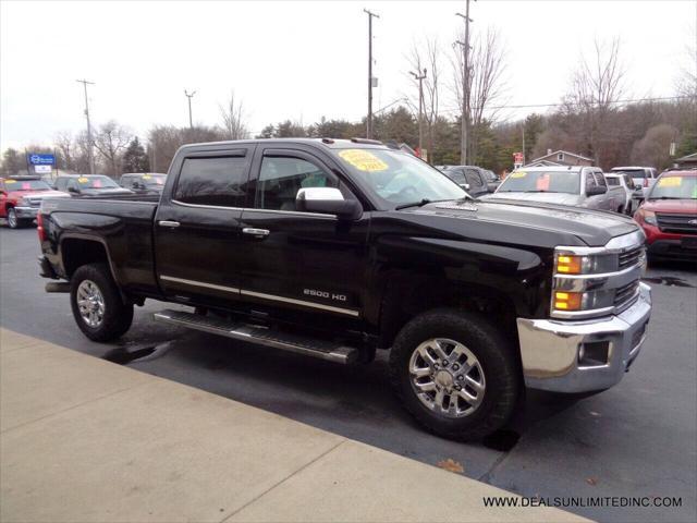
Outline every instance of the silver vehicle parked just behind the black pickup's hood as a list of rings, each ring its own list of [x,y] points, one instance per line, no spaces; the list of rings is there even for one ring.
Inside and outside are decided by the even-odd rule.
[[[622,187],[608,187],[597,167],[522,167],[485,198],[517,199],[612,210],[624,208]]]

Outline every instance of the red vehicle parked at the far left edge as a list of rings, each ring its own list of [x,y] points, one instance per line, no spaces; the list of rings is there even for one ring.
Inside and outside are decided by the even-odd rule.
[[[65,198],[70,195],[53,191],[38,177],[0,178],[0,218],[11,229],[34,221],[44,198]]]

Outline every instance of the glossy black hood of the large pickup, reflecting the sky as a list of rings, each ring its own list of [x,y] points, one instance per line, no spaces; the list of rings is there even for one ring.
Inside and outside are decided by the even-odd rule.
[[[489,197],[475,202],[432,203],[415,209],[414,212],[476,220],[490,223],[491,228],[503,227],[510,229],[513,238],[517,235],[519,241],[533,241],[535,236],[541,241],[539,232],[545,231],[545,236],[549,241],[558,242],[558,245],[576,244],[577,241],[572,242],[576,238],[582,244],[602,246],[615,236],[639,230],[632,218],[614,212],[510,198]]]

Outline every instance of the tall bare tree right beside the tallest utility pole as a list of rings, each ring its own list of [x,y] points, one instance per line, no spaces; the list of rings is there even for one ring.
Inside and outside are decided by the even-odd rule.
[[[460,38],[461,40],[464,37]],[[453,46],[453,90],[457,107],[463,106],[465,88],[469,96],[466,114],[461,118],[468,119],[470,130],[467,150],[469,158],[477,156],[481,126],[486,121],[492,122],[499,114],[496,101],[501,100],[505,94],[505,54],[506,49],[498,29],[488,27],[484,34],[474,38],[469,54],[469,85],[464,86],[464,62],[458,46]]]

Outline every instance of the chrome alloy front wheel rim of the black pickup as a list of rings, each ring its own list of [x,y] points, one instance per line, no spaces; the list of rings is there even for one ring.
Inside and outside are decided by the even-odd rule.
[[[479,360],[465,345],[447,338],[427,340],[414,350],[409,376],[420,402],[447,417],[475,412],[487,387]]]

